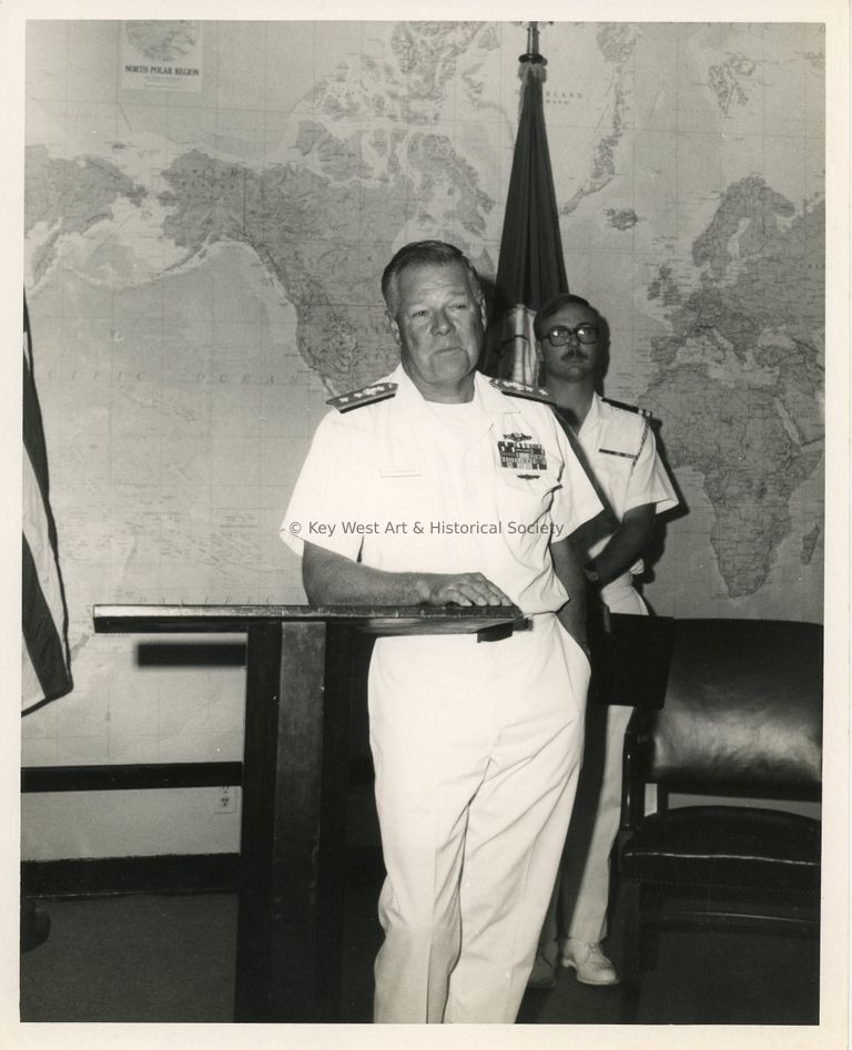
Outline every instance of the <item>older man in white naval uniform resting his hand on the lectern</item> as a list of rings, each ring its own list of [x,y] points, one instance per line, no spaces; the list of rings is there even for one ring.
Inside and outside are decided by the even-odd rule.
[[[529,618],[487,644],[379,639],[369,672],[387,871],[374,1018],[511,1022],[582,740],[584,578],[567,536],[600,502],[542,393],[475,370],[485,308],[457,248],[406,245],[382,288],[400,365],[333,400],[282,536],[316,604],[514,602]]]

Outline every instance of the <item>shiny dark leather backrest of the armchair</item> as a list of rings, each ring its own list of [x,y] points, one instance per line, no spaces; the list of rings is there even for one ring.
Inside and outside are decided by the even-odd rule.
[[[668,791],[819,798],[823,629],[678,620],[661,711],[641,712],[645,781]]]

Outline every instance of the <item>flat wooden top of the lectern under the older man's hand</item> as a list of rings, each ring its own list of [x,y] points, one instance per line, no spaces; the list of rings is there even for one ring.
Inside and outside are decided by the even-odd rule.
[[[253,624],[325,621],[366,634],[505,638],[526,621],[516,605],[95,605],[100,634],[231,633]],[[481,635],[480,635],[481,636]]]

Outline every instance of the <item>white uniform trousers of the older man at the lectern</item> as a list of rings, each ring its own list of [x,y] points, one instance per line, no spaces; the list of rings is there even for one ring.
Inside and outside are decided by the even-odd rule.
[[[588,676],[552,614],[500,642],[376,643],[375,1021],[514,1022],[570,817]]]

